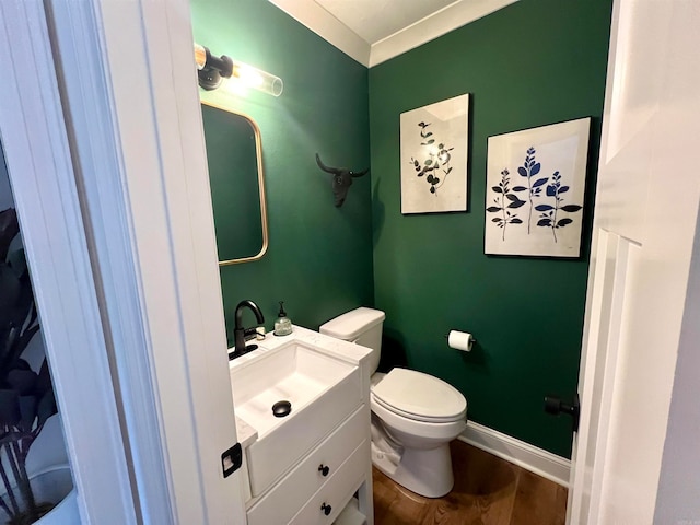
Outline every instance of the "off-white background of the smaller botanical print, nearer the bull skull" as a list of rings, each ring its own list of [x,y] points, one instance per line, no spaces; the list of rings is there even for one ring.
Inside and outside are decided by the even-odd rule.
[[[400,115],[401,147],[401,213],[431,213],[467,210],[467,155],[469,95],[464,94],[435,104],[419,107]],[[441,184],[434,194],[427,176],[417,176],[411,159],[423,162],[430,148],[422,145],[419,122],[429,122],[435,144],[444,143],[450,151],[452,171],[444,176],[439,170]],[[434,145],[433,144],[433,148]]]

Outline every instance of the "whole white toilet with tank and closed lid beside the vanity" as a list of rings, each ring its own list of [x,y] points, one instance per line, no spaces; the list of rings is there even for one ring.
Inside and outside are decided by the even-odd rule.
[[[384,312],[357,308],[320,326],[337,339],[372,352],[372,463],[397,483],[428,497],[452,490],[450,442],[466,428],[467,400],[442,380],[406,369],[375,373]]]

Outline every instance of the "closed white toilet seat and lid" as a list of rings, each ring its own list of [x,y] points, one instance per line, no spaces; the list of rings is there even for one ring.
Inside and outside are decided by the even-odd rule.
[[[395,368],[372,386],[372,400],[397,416],[427,423],[462,421],[467,400],[459,390],[438,377]]]

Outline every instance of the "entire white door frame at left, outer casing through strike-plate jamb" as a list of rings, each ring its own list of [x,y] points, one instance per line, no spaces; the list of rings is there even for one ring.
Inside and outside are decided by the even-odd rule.
[[[0,129],[81,517],[243,522],[189,4],[45,3],[0,8]]]

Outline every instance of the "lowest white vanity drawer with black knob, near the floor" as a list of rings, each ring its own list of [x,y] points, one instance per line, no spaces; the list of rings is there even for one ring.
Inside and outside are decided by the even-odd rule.
[[[370,457],[370,440],[364,441],[331,476],[290,525],[330,525],[364,480]],[[330,509],[328,509],[330,508]],[[328,514],[326,514],[328,512]]]

